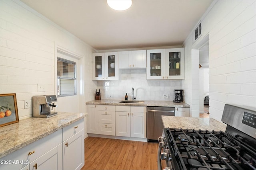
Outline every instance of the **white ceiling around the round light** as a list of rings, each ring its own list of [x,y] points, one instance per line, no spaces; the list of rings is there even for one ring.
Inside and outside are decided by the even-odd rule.
[[[96,50],[182,45],[212,0],[22,0]]]

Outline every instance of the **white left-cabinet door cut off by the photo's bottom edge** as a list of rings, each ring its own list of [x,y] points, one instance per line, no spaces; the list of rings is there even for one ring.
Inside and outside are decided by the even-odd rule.
[[[62,144],[30,162],[30,170],[62,170]]]

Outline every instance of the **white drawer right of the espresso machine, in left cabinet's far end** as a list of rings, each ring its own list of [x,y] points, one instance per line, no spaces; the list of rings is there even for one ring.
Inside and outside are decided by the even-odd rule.
[[[68,125],[63,128],[63,141],[66,139],[72,137],[79,131],[84,129],[84,119],[80,119],[79,121],[76,121],[72,123],[71,125]]]

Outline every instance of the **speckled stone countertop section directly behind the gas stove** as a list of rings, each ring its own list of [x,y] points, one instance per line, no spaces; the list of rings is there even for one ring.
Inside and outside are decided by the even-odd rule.
[[[212,118],[162,116],[164,128],[225,131],[226,124]]]

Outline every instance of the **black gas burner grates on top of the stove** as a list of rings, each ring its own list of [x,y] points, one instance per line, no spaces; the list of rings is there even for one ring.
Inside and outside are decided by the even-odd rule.
[[[166,140],[179,169],[256,170],[254,150],[226,132],[166,128]]]

